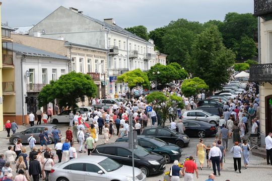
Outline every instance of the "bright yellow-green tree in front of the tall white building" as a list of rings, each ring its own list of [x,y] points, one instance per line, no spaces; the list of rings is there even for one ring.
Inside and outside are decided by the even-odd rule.
[[[117,82],[127,83],[127,86],[132,91],[135,86],[143,86],[143,88],[150,88],[150,81],[145,72],[142,72],[140,68],[130,70],[117,77]]]

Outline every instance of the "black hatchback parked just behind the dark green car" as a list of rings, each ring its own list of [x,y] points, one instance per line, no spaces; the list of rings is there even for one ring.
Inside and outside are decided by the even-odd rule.
[[[154,136],[165,142],[176,144],[180,148],[188,146],[190,142],[190,138],[187,135],[172,131],[171,129],[165,126],[146,127],[143,130],[142,135]]]

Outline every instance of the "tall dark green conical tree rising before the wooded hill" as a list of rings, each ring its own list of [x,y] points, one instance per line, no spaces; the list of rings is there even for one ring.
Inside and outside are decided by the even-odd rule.
[[[211,26],[196,36],[187,61],[193,76],[203,79],[212,92],[229,81],[234,58],[235,54],[223,45],[218,28]]]

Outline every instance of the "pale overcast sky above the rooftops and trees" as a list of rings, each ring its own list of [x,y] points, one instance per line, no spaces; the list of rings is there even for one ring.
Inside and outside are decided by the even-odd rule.
[[[1,1],[1,0],[0,0]],[[59,6],[74,7],[103,20],[114,18],[122,28],[144,25],[153,30],[184,18],[224,20],[229,12],[253,13],[253,0],[2,0],[2,22],[11,27],[35,25]]]

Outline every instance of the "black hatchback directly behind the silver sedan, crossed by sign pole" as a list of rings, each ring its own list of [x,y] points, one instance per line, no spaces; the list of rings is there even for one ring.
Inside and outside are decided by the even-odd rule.
[[[132,166],[132,153],[128,143],[115,142],[96,146],[93,155],[107,156],[120,164]],[[147,176],[163,172],[166,161],[163,156],[138,146],[134,149],[134,166],[140,168]]]

